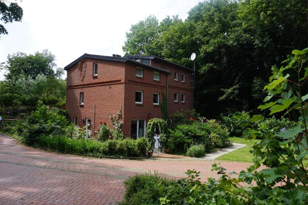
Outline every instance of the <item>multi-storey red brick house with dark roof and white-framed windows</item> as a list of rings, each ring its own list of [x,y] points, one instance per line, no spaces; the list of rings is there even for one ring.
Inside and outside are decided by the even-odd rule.
[[[153,55],[84,54],[67,65],[66,108],[71,121],[98,131],[121,111],[124,136],[144,137],[149,119],[161,118],[162,93],[168,115],[193,108],[192,70]]]

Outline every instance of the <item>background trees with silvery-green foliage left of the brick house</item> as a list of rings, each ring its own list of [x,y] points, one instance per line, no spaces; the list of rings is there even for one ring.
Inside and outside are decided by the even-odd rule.
[[[13,115],[33,111],[38,100],[47,105],[65,102],[66,80],[63,68],[56,68],[55,56],[48,50],[35,55],[17,53],[8,56],[6,79],[0,82],[0,106]]]

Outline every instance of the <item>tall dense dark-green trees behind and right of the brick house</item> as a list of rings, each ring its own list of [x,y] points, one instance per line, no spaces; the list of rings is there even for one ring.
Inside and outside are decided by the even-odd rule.
[[[259,112],[271,66],[307,47],[307,31],[306,1],[210,0],[189,10],[184,22],[174,16],[158,23],[149,16],[132,25],[123,51],[190,68],[195,52],[195,107],[204,116],[219,117]]]

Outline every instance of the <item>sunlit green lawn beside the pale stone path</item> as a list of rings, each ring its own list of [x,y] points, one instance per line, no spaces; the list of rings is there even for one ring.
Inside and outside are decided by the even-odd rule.
[[[242,137],[229,137],[229,139],[232,142],[246,144],[247,146],[242,147],[238,150],[229,152],[228,154],[221,155],[220,157],[217,157],[216,159],[236,161],[236,162],[253,162],[253,154],[251,154],[249,150],[252,150],[251,147],[254,145],[254,143],[260,140],[250,141],[250,140],[245,140]]]

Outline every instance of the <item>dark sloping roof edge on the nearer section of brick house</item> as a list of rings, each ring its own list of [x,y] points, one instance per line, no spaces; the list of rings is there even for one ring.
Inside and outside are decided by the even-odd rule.
[[[131,62],[134,64],[138,64],[140,66],[144,66],[144,67],[148,67],[148,68],[152,68],[153,70],[158,70],[161,72],[166,72],[166,73],[170,73],[167,70],[161,69],[161,68],[157,68],[155,66],[151,66],[148,64],[144,64],[132,59],[128,59],[125,57],[115,57],[115,56],[106,56],[106,55],[92,55],[92,54],[83,54],[82,56],[80,56],[79,58],[77,58],[76,60],[74,60],[73,62],[71,62],[70,64],[68,64],[67,66],[64,67],[64,70],[67,70],[68,68],[70,68],[72,65],[76,64],[78,61],[80,61],[83,58],[93,58],[93,59],[100,59],[100,60],[112,60],[112,61],[118,61],[118,62]]]

